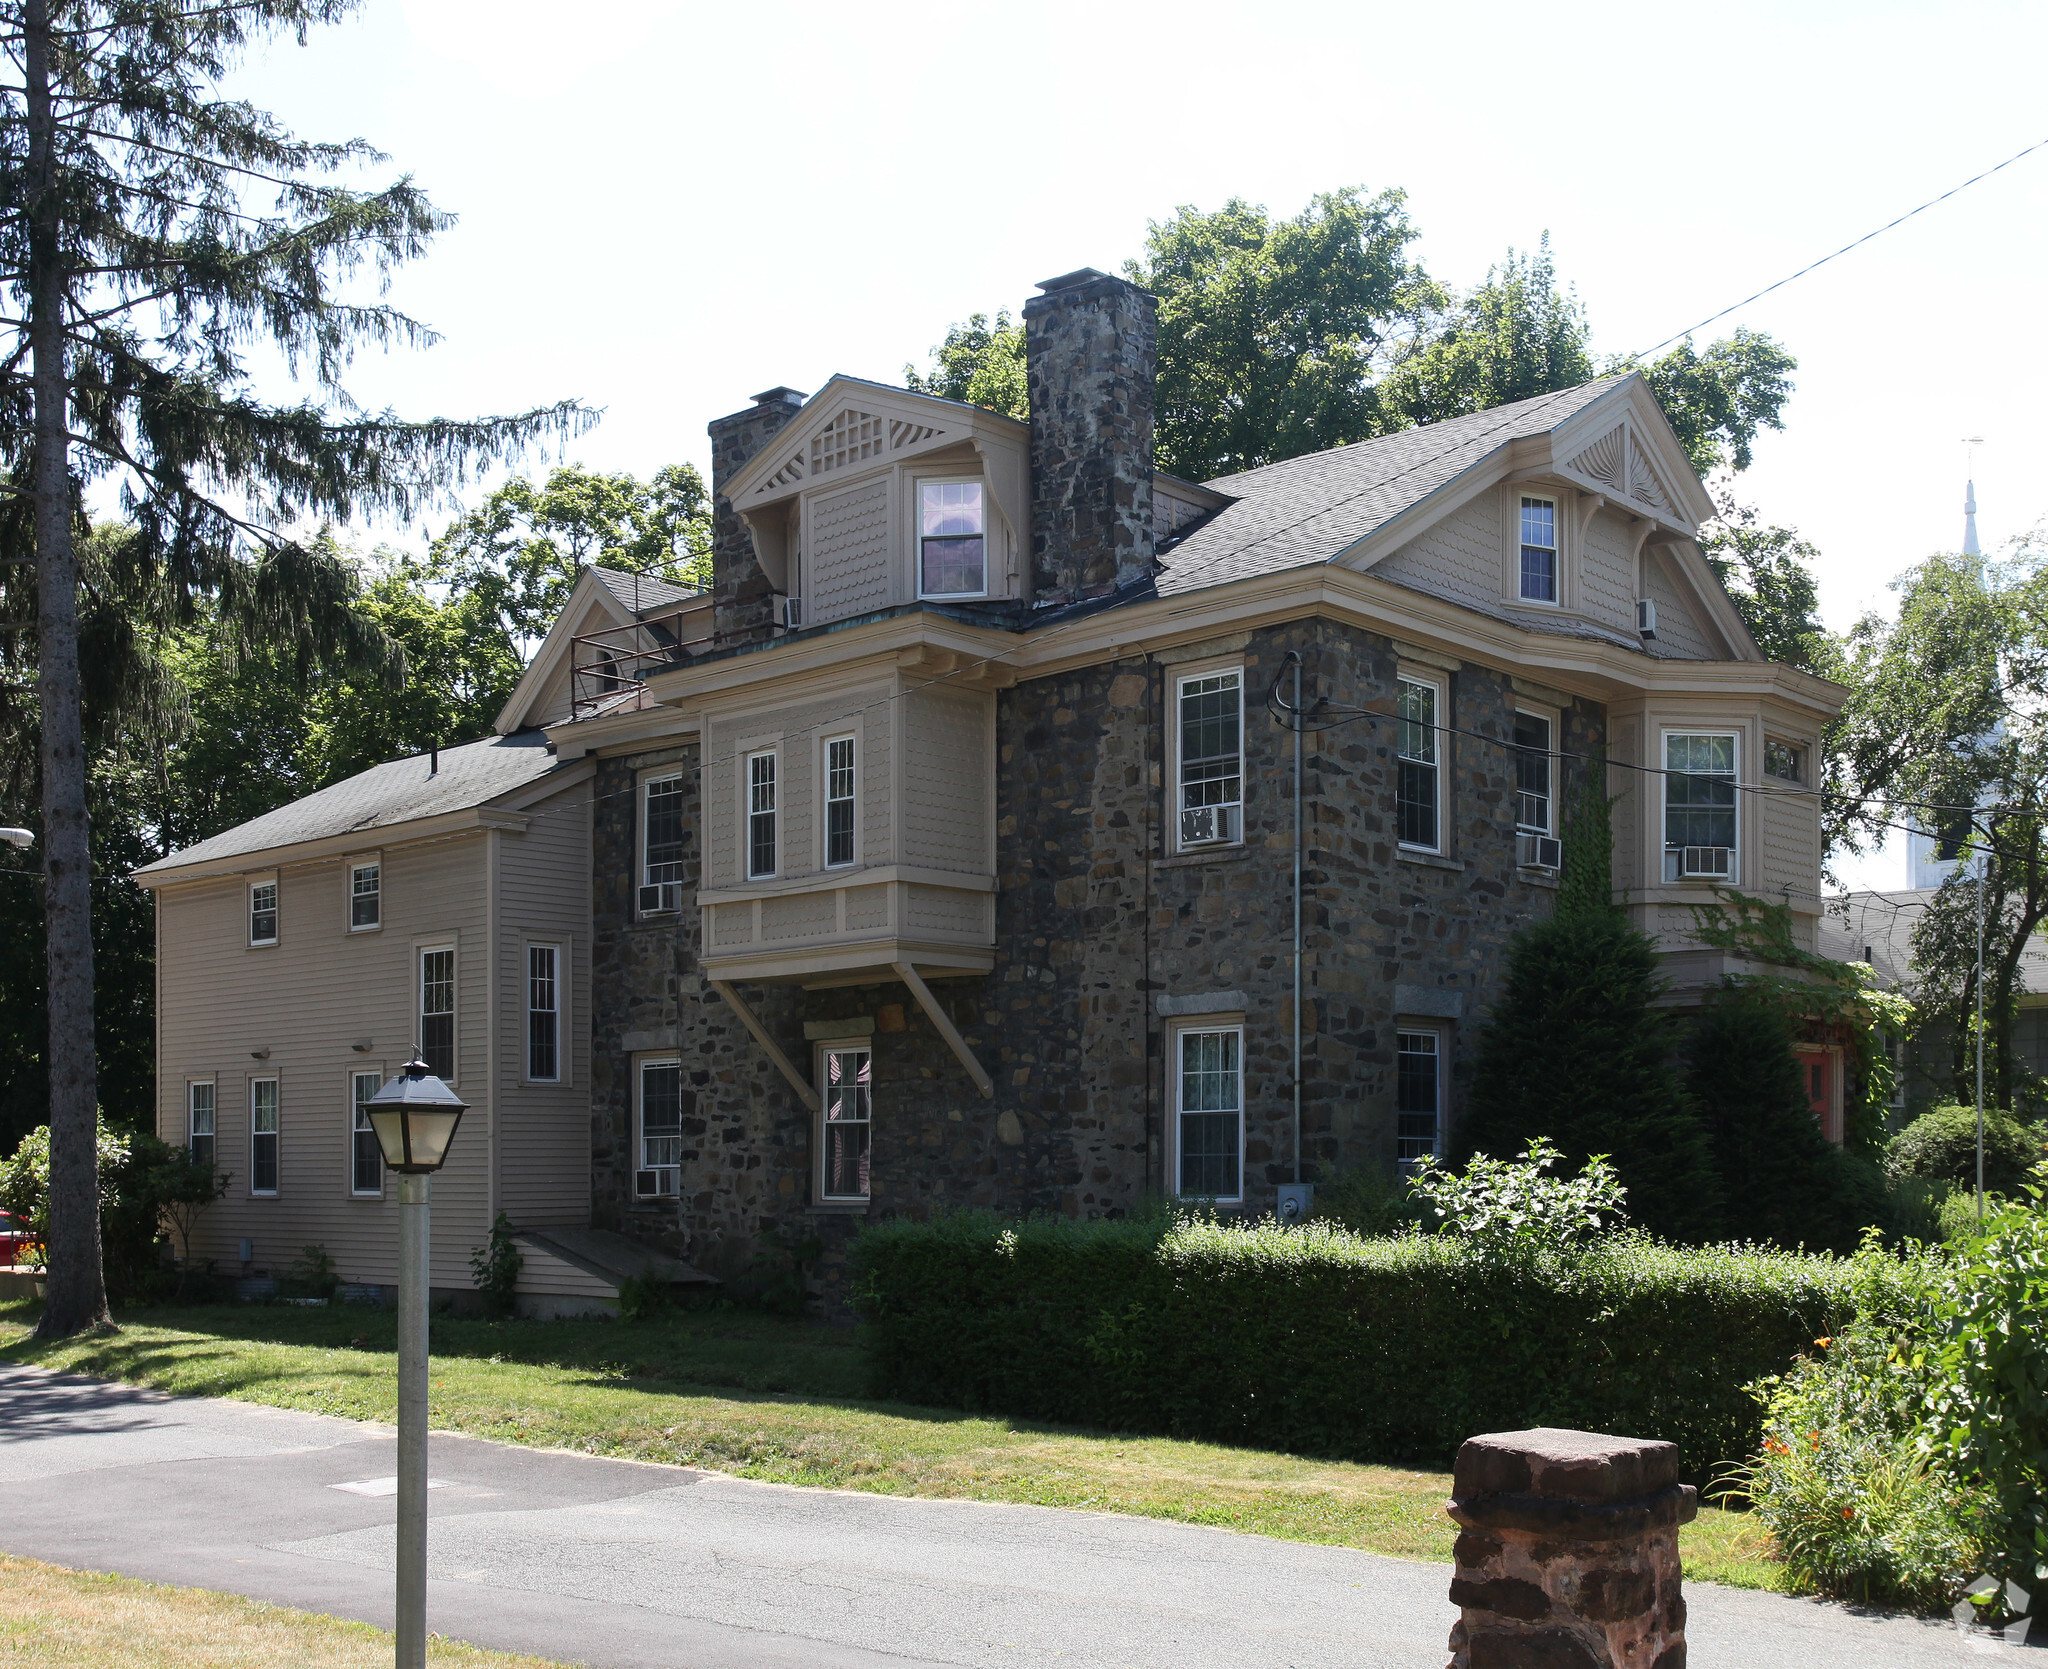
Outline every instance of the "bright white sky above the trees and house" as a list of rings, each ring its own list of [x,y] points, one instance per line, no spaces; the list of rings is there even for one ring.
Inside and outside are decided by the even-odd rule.
[[[768,4],[369,0],[236,90],[362,135],[459,215],[389,299],[406,416],[604,408],[567,457],[709,463],[705,424],[1114,270],[1149,219],[1399,186],[1479,283],[1548,231],[1599,352],[1645,350],[2048,137],[2028,4]],[[1800,360],[1737,496],[1847,627],[1962,537],[2048,520],[2048,149],[1702,332]],[[543,461],[535,461],[543,463]],[[1905,885],[1903,842],[1839,866]]]

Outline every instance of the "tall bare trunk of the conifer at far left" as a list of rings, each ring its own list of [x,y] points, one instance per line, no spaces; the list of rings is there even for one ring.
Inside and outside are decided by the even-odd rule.
[[[49,1296],[37,1337],[104,1327],[98,1065],[92,1032],[92,831],[78,700],[66,270],[49,98],[49,0],[23,8],[29,106],[29,348],[35,391],[37,694],[43,725],[43,915],[49,1042]]]

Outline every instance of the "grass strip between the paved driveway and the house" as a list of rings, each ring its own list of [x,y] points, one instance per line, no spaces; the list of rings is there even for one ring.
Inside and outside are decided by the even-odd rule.
[[[109,1337],[37,1345],[0,1304],[0,1356],[182,1397],[395,1417],[395,1319],[379,1309],[133,1311]],[[745,1311],[651,1323],[434,1319],[434,1425],[535,1448],[745,1479],[1171,1517],[1450,1563],[1448,1472],[1120,1438],[862,1399],[850,1327]],[[1778,1587],[1743,1513],[1700,1511],[1686,1575]]]

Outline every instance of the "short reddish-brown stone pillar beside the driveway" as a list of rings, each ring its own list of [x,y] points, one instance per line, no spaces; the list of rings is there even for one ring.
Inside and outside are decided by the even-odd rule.
[[[1686,1669],[1677,1446],[1493,1431],[1458,1450],[1450,1669]]]

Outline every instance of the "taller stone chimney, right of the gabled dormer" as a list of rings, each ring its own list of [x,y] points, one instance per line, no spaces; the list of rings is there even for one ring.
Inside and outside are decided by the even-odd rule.
[[[1159,303],[1083,266],[1024,303],[1032,590],[1102,596],[1153,571]]]

